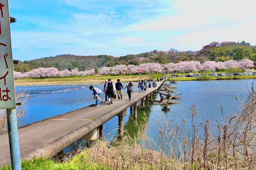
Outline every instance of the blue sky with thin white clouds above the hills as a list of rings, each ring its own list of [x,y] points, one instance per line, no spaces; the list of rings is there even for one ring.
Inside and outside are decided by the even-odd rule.
[[[13,58],[124,56],[200,50],[212,41],[256,45],[252,0],[9,0]]]

